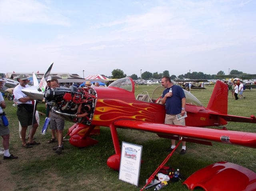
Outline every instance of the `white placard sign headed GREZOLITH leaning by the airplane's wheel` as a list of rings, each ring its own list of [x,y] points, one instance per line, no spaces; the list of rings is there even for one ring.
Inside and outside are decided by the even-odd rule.
[[[139,185],[142,146],[122,141],[119,179]]]

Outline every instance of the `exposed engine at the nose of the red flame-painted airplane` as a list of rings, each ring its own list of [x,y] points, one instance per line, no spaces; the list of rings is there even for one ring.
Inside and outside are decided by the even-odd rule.
[[[47,90],[45,98],[52,111],[66,120],[90,125],[97,99],[93,88],[54,88]]]

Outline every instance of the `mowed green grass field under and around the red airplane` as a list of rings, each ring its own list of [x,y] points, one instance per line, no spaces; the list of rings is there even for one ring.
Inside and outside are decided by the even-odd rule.
[[[143,91],[148,91],[151,95],[154,88],[156,86],[136,86],[136,95]],[[206,88],[203,91],[191,91],[204,106],[207,106],[214,87],[208,86]],[[232,99],[230,93],[228,95],[228,114],[246,117],[256,115],[256,90],[245,90],[246,99],[239,100]],[[3,190],[138,191],[169,154],[165,151],[170,146],[168,139],[159,138],[153,133],[118,129],[120,145],[122,141],[126,141],[143,146],[139,187],[136,187],[120,181],[118,172],[106,165],[108,157],[115,153],[108,127],[101,127],[100,135],[93,136],[99,141],[98,144],[81,149],[70,145],[68,141],[64,141],[65,149],[62,155],[57,155],[52,151],[52,147],[57,143],[46,143],[51,138],[50,131],[48,130],[46,135],[40,135],[44,123],[42,116],[40,127],[36,133],[36,141],[41,144],[32,149],[25,149],[21,147],[16,107],[12,106],[12,101],[6,100],[6,103],[5,111],[8,114],[11,131],[10,152],[17,155],[19,159],[12,161],[0,159],[2,162],[0,164],[2,179],[0,188]],[[38,110],[44,112],[44,104],[39,104]],[[66,122],[65,133],[71,126],[72,123]],[[256,133],[256,124],[252,123],[230,122],[226,127],[229,130]],[[248,147],[215,142],[213,142],[213,146],[187,143],[187,153],[180,155],[175,152],[166,165],[174,169],[179,168],[184,177],[188,177],[198,169],[218,161],[236,163],[256,172],[255,156],[256,149]],[[182,185],[182,182],[170,183],[163,190],[188,190],[185,185]]]

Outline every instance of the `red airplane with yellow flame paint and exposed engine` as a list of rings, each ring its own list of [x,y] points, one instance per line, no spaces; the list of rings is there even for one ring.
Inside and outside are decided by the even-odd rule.
[[[46,78],[47,75],[44,80]],[[36,94],[31,89],[24,89],[22,92],[30,97],[40,97],[39,93]],[[218,141],[256,147],[256,133],[228,131],[226,128],[202,128],[226,125],[228,121],[256,123],[254,115],[241,117],[227,114],[226,84],[220,81],[216,83],[207,107],[186,90],[184,92],[188,115],[185,119],[186,126],[164,124],[165,106],[159,103],[160,99],[136,99],[131,78],[116,80],[108,88],[55,88],[48,90],[45,97],[55,113],[75,122],[68,130],[68,135],[70,143],[76,147],[87,147],[98,142],[88,136],[96,126],[110,127],[116,154],[108,158],[107,165],[114,170],[119,169],[121,154],[117,128],[148,131],[159,137],[177,140],[182,137],[183,141],[206,145],[212,145],[211,141]]]

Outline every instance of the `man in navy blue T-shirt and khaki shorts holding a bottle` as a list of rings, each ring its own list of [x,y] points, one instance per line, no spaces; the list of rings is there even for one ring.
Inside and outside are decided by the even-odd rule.
[[[166,88],[162,95],[162,104],[165,104],[166,115],[165,121],[166,124],[172,125],[185,125],[185,119],[178,120],[176,115],[181,113],[182,116],[185,114],[186,106],[186,96],[183,89],[180,86],[173,85],[169,77],[163,77],[161,80],[162,86]],[[172,139],[172,146],[168,151],[172,151],[175,148],[175,140]],[[180,154],[186,153],[186,142],[182,141],[182,150]]]

